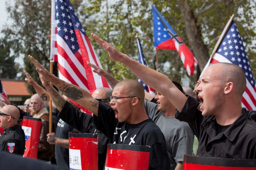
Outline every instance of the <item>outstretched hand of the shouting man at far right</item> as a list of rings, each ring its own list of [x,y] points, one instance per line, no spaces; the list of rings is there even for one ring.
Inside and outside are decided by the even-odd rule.
[[[120,52],[112,44],[106,42],[105,40],[98,37],[96,34],[91,33],[92,38],[94,38],[97,43],[102,46],[107,52],[109,57],[114,61],[121,61],[123,58],[128,57],[126,54]],[[128,57],[129,58],[129,57]]]

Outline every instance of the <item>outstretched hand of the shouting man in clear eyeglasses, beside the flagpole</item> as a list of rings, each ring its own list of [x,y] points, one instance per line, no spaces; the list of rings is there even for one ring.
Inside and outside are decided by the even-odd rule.
[[[50,81],[53,75],[42,64],[40,64],[36,59],[34,59],[31,55],[28,55],[28,58],[36,66],[36,71],[39,73],[39,76],[41,76],[40,80],[42,79],[45,81]]]

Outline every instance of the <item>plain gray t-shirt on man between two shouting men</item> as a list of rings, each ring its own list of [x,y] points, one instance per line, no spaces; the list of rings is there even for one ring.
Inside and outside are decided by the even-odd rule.
[[[164,134],[171,169],[175,169],[176,163],[183,161],[184,155],[192,154],[194,134],[188,123],[165,116],[157,109],[156,103],[145,101],[144,106],[148,117]]]

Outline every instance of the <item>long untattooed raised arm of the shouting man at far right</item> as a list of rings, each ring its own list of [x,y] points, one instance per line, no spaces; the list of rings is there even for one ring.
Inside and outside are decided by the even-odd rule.
[[[97,43],[108,52],[108,55],[112,60],[120,61],[126,65],[140,80],[159,93],[164,94],[164,96],[172,102],[177,110],[182,110],[187,101],[187,97],[176,88],[168,77],[149,67],[143,66],[135,60],[132,60],[129,56],[118,51],[113,45],[99,38],[97,35],[93,33],[91,35]]]

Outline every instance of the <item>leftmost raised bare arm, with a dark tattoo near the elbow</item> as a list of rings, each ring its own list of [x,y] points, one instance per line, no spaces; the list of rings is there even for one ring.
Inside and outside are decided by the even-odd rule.
[[[33,86],[33,88],[36,90],[36,93],[42,98],[44,103],[46,103],[48,106],[50,106],[50,96],[47,93],[47,91],[40,86],[31,76],[28,74],[28,72],[23,69],[24,74],[27,78],[25,78],[25,81],[28,82],[29,85]]]

